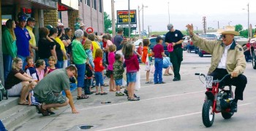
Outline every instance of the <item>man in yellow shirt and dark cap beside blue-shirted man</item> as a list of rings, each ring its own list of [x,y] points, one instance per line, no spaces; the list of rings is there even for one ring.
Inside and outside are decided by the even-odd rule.
[[[36,60],[36,50],[38,49],[37,47],[37,43],[36,43],[36,37],[34,36],[33,33],[33,28],[34,25],[36,24],[36,20],[34,20],[34,17],[29,17],[28,20],[26,20],[26,29],[29,31],[29,36],[31,37],[31,39],[29,40],[29,51],[30,51],[30,55],[31,57],[33,57],[33,60],[35,62]]]

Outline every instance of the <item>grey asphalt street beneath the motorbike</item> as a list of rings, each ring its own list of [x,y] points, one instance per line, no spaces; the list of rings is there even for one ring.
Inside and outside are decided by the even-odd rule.
[[[206,91],[195,73],[207,73],[210,56],[198,57],[184,52],[181,65],[181,81],[173,82],[173,76],[163,76],[166,84],[145,84],[146,72],[141,68],[141,88],[136,91],[140,101],[131,102],[127,97],[116,97],[115,92],[108,95],[90,95],[89,99],[76,100],[75,107],[80,114],[72,114],[69,106],[55,110],[55,115],[41,116],[16,128],[28,130],[83,130],[83,126],[93,126],[89,130],[256,130],[256,70],[247,63],[248,84],[244,100],[238,101],[238,112],[231,119],[223,119],[215,114],[212,127],[206,128],[202,122],[202,107]],[[153,80],[153,74],[150,74]],[[233,88],[234,90],[235,88]],[[105,87],[108,91],[108,87]],[[76,98],[76,92],[73,92]],[[111,103],[102,104],[101,102]]]

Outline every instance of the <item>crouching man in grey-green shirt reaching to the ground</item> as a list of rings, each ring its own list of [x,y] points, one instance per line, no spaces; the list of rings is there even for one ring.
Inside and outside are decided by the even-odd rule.
[[[67,106],[68,103],[73,114],[79,113],[75,109],[69,86],[69,78],[76,76],[77,73],[78,70],[74,65],[56,69],[34,87],[34,97],[42,103],[37,107],[42,116],[49,116],[50,108]],[[62,90],[65,91],[67,97],[60,94]]]

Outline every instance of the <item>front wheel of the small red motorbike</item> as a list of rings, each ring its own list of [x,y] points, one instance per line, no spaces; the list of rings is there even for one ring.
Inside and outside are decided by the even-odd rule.
[[[206,127],[211,127],[211,125],[214,124],[214,112],[212,111],[212,108],[213,108],[212,100],[206,100],[205,103],[203,103],[202,119],[203,119],[203,124]]]

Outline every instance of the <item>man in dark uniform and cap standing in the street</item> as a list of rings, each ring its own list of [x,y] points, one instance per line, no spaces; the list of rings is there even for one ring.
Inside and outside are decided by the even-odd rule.
[[[169,32],[167,32],[165,35],[165,44],[167,44],[167,47],[170,45],[173,46],[172,52],[169,52],[170,62],[173,63],[173,81],[179,81],[181,80],[179,71],[181,68],[181,61],[183,60],[183,49],[181,48],[181,44],[184,36],[181,31],[173,28],[173,24],[168,24],[167,29]]]

